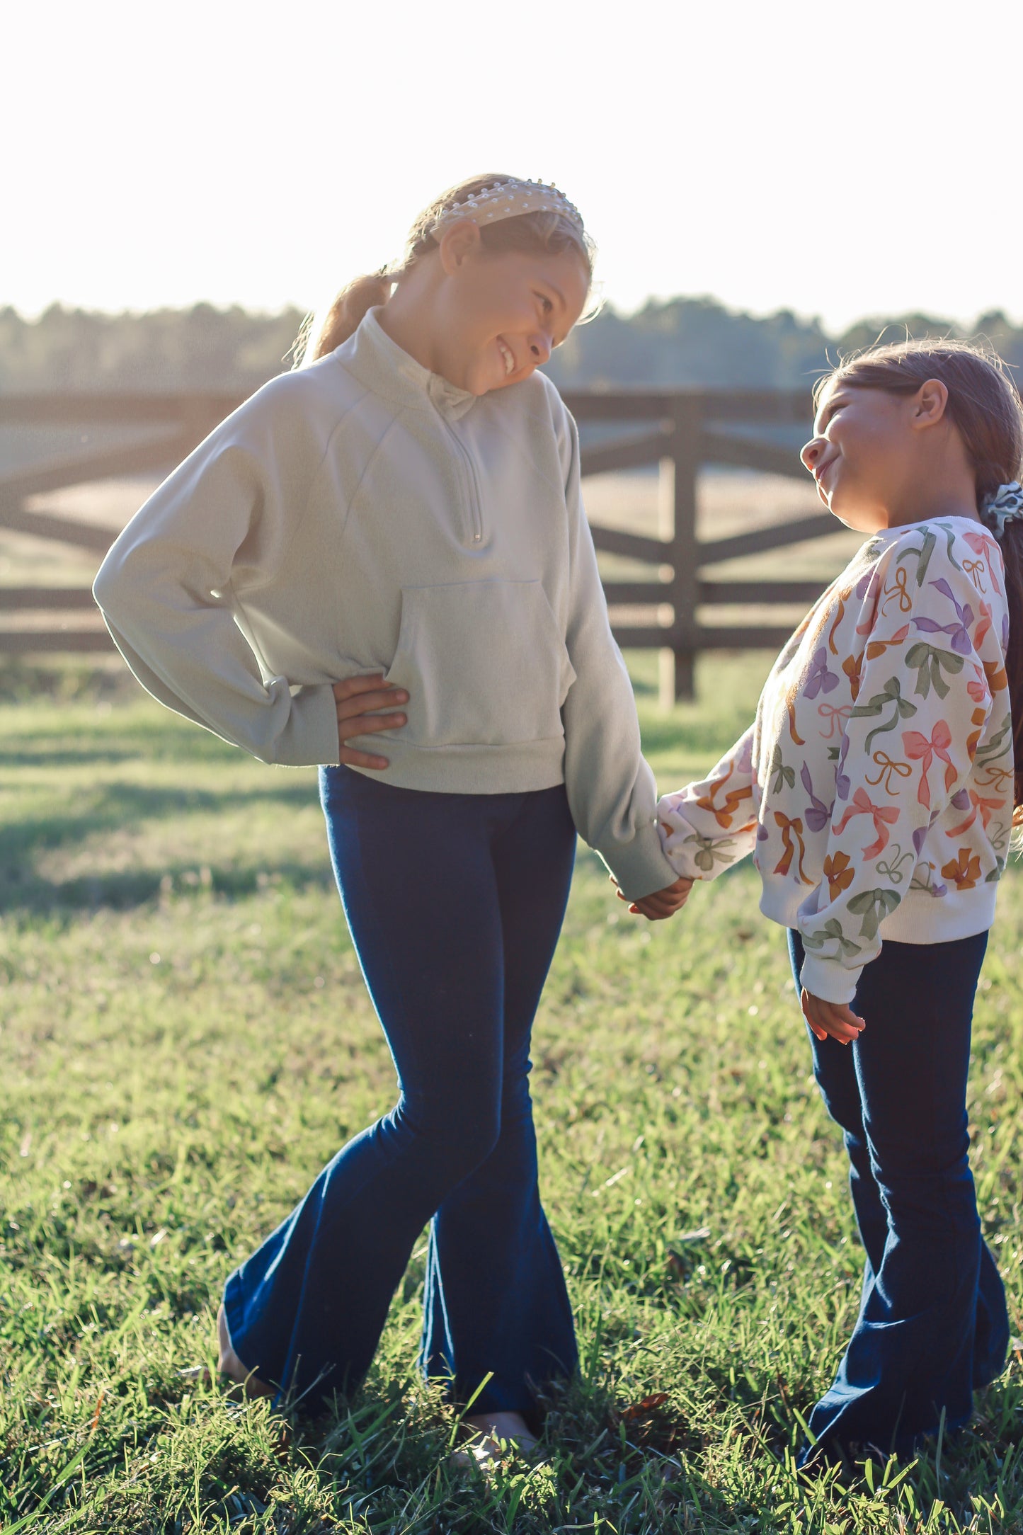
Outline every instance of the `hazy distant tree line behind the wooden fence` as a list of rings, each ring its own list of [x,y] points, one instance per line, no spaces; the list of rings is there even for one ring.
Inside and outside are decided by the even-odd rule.
[[[109,315],[51,305],[37,319],[0,309],[0,393],[258,388],[291,365],[302,313],[239,307]],[[933,315],[870,318],[840,335],[790,310],[758,316],[713,298],[650,301],[636,313],[604,307],[555,352],[548,371],[564,388],[804,388],[844,353],[879,336],[980,336],[1023,368],[1023,327],[1002,312],[972,327]]]

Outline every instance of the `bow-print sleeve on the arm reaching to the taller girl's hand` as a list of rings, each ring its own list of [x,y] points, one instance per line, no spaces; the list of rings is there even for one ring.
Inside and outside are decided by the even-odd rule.
[[[752,725],[702,783],[663,795],[661,838],[676,875],[713,880],[756,841],[756,786]]]

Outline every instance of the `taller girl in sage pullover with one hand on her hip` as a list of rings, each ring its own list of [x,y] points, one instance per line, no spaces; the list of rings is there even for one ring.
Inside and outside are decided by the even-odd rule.
[[[528,1440],[537,1391],[575,1365],[529,1032],[577,829],[626,893],[676,881],[575,425],[537,371],[586,304],[590,249],[554,187],[446,192],[95,585],[156,698],[264,761],[328,764],[331,858],[400,1093],[230,1276],[219,1317],[221,1368],[304,1408],[365,1374],[426,1222],[423,1365],[479,1392],[471,1424]]]

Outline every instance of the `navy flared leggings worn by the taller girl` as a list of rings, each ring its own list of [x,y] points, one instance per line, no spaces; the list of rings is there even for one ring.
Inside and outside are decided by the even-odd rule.
[[[232,1345],[305,1409],[365,1375],[429,1222],[422,1363],[532,1415],[575,1334],[540,1205],[529,1033],[575,857],[564,787],[423,794],[321,769],[348,927],[399,1081],[227,1280]]]

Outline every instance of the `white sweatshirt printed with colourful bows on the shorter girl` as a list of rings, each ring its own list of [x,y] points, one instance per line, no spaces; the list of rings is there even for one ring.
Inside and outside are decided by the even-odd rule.
[[[1012,824],[1002,554],[968,517],[870,537],[778,657],[756,723],[660,801],[679,875],[753,853],[802,984],[850,1002],[883,938],[985,932]]]

